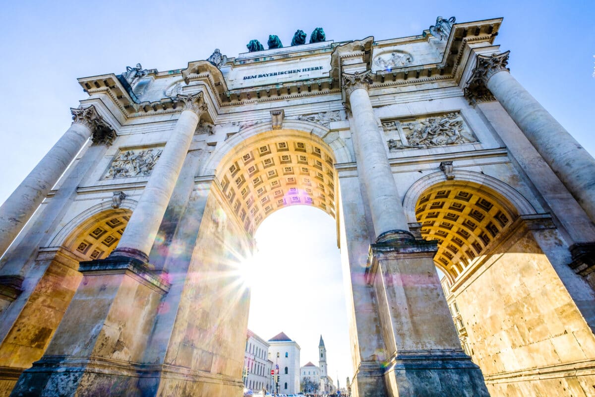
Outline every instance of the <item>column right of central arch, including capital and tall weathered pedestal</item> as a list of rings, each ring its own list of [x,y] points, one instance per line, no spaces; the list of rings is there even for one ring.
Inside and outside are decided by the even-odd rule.
[[[365,281],[374,290],[383,365],[361,362],[358,395],[487,397],[481,370],[464,354],[436,273],[436,241],[409,232],[386,143],[368,96],[370,71],[343,74],[353,119],[358,177],[364,186],[376,241],[369,246]],[[367,390],[378,378],[385,390]]]

